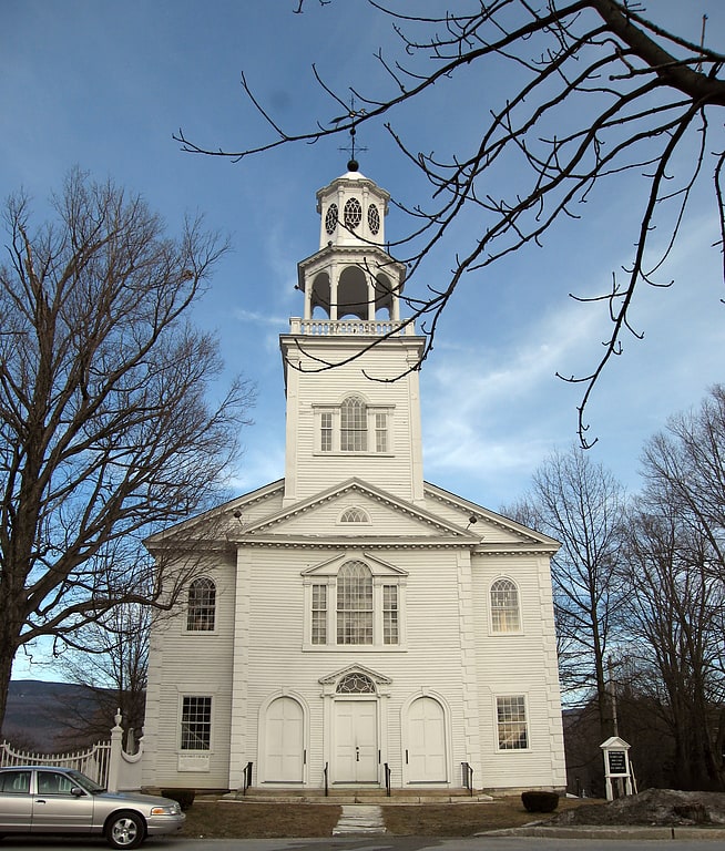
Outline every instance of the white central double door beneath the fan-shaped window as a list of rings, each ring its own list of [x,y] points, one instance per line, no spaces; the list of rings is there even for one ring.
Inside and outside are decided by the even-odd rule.
[[[334,782],[378,782],[377,700],[335,701],[334,753]]]

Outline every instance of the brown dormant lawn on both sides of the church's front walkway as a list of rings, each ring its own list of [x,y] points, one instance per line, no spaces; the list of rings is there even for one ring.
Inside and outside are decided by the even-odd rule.
[[[592,800],[562,799],[558,812],[582,804],[592,804]],[[382,812],[390,833],[417,837],[469,837],[483,830],[520,827],[550,818],[527,812],[519,797],[484,803],[390,804],[385,806]],[[335,804],[197,799],[186,811],[182,835],[208,839],[329,837],[339,817],[340,807]]]

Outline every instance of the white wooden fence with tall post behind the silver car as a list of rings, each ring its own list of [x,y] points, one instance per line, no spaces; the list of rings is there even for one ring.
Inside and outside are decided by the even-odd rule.
[[[139,750],[135,753],[126,753],[122,745],[121,715],[115,715],[113,720],[115,726],[111,730],[109,741],[100,741],[86,750],[31,753],[16,750],[8,741],[0,742],[0,767],[62,766],[82,771],[111,792],[141,789],[143,739],[139,739]]]

